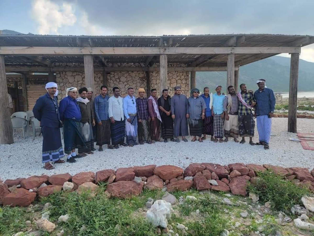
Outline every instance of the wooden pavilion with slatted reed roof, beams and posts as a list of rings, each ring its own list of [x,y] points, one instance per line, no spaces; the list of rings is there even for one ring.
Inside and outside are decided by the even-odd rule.
[[[151,88],[150,73],[158,71],[159,90],[167,87],[168,73],[190,73],[195,87],[196,71],[227,71],[227,86],[238,87],[239,67],[280,53],[291,54],[288,131],[296,132],[296,102],[301,47],[314,43],[314,36],[231,34],[150,36],[51,36],[0,34],[0,143],[13,143],[8,107],[6,72],[54,73],[84,71],[86,87],[95,87],[94,72],[102,71],[103,84],[113,71],[144,71]],[[71,65],[78,66],[68,66]],[[115,67],[108,64],[132,66]],[[135,65],[135,66],[134,66]],[[184,65],[184,66],[176,66]],[[267,79],[267,78],[266,78]],[[22,90],[26,99],[27,76]]]

